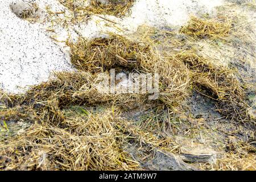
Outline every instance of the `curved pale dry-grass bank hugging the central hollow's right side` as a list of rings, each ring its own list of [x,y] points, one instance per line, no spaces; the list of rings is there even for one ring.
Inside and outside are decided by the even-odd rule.
[[[140,53],[140,65],[144,72],[159,74],[159,100],[167,106],[177,106],[188,97],[189,71],[175,57],[161,56],[155,48],[151,53]]]

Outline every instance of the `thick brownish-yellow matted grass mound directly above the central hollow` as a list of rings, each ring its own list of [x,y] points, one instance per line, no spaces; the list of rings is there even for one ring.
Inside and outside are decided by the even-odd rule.
[[[100,72],[114,67],[136,68],[138,52],[145,52],[147,46],[131,42],[119,35],[110,35],[109,38],[86,40],[80,38],[71,47],[71,61],[77,69],[82,71]]]

